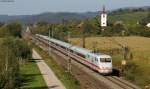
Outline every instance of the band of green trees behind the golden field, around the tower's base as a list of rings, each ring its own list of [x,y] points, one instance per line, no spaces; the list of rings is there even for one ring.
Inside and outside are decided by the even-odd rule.
[[[149,28],[143,25],[149,22],[149,20],[146,18],[143,18],[142,21],[140,21],[140,24],[132,27],[126,26],[123,22],[108,22],[108,26],[102,28],[99,23],[100,21],[99,17],[78,22],[68,21],[60,24],[48,24],[40,22],[36,25],[36,27],[32,28],[32,32],[34,34],[38,33],[48,35],[49,30],[51,30],[51,35],[61,40],[67,38],[68,32],[71,33],[72,37],[129,36],[129,35],[139,35],[149,37],[150,36]]]

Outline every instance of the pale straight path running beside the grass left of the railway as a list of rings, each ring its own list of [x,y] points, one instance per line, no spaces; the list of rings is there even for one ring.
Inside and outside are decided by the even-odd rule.
[[[33,59],[36,59],[36,63],[43,75],[43,78],[48,86],[48,89],[66,89],[63,84],[58,80],[49,66],[42,60],[41,56],[33,49]],[[38,60],[37,60],[38,59]]]

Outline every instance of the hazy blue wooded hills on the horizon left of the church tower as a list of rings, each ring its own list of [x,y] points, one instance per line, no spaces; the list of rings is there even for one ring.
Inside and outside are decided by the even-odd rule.
[[[39,15],[18,15],[8,16],[0,15],[1,22],[13,22],[19,21],[22,23],[35,23],[39,21],[45,21],[48,23],[60,23],[62,20],[83,20],[98,15],[98,12],[86,12],[86,13],[42,13]]]

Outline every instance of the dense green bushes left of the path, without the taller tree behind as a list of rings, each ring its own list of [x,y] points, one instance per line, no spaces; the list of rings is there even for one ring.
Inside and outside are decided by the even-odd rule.
[[[15,89],[21,84],[19,59],[31,58],[26,42],[16,38],[4,38],[0,44],[0,89]]]

